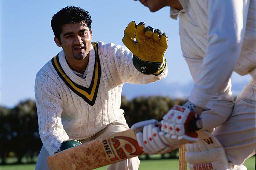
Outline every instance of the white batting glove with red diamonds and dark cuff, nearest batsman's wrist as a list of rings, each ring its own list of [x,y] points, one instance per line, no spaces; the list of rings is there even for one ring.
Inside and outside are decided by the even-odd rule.
[[[197,141],[196,130],[202,128],[197,114],[184,106],[173,106],[161,121],[160,138],[172,147]]]

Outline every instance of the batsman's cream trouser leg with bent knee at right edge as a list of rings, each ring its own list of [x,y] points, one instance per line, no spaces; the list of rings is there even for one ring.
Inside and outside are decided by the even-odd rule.
[[[212,132],[224,146],[228,160],[234,165],[255,154],[256,81],[246,85],[237,96],[232,115]]]

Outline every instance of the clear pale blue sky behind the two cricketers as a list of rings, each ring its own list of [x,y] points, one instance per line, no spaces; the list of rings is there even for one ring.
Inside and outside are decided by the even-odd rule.
[[[151,13],[133,0],[57,1],[4,0],[0,2],[0,105],[13,107],[20,101],[34,99],[36,73],[61,48],[53,41],[50,21],[65,6],[79,6],[92,16],[93,41],[122,42],[125,27],[135,21],[146,22],[168,34],[168,76],[147,85],[125,84],[123,95],[128,98],[163,95],[172,98],[188,97],[193,82],[188,66],[181,55],[178,21],[169,17],[169,7]],[[237,95],[250,81],[250,76],[232,74],[233,93]]]

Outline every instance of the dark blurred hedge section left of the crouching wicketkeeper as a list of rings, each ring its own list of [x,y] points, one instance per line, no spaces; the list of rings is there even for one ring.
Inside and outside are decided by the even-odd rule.
[[[36,103],[26,100],[12,109],[0,107],[0,156],[1,164],[6,163],[10,153],[18,158],[33,158],[38,155],[42,142],[38,133]]]

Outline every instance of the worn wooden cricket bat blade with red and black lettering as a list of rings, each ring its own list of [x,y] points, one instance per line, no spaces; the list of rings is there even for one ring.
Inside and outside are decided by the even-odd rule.
[[[127,130],[55,153],[47,162],[51,170],[90,170],[143,154],[134,131]]]

